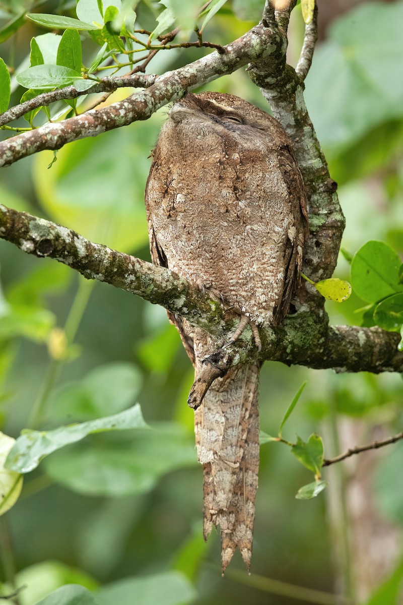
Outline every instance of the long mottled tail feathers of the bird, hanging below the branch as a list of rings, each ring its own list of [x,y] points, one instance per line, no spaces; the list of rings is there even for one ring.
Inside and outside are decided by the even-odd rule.
[[[204,467],[204,538],[213,525],[220,526],[223,573],[237,548],[250,569],[259,470],[258,394],[259,367],[238,366],[213,383],[195,413],[198,460]]]

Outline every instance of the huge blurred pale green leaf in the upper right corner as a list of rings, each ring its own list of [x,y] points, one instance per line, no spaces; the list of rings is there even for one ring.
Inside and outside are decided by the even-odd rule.
[[[306,105],[321,145],[341,158],[347,145],[403,116],[403,79],[396,77],[403,64],[402,22],[402,2],[362,2],[332,22],[315,50]]]

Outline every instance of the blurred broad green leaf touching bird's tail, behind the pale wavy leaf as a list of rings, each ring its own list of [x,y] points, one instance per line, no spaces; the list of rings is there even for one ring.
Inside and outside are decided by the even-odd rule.
[[[170,422],[132,431],[124,441],[85,440],[44,464],[51,479],[79,494],[123,497],[149,492],[167,473],[197,466],[197,457],[192,433]]]

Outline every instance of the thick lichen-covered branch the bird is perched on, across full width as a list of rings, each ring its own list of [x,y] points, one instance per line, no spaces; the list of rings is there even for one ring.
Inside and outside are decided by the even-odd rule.
[[[169,269],[92,243],[43,218],[0,205],[0,237],[28,254],[54,258],[88,279],[105,281],[160,304],[223,344],[239,324],[239,316],[226,312],[220,302]],[[259,358],[337,371],[403,371],[403,353],[397,349],[400,339],[397,333],[380,328],[327,327],[326,315],[314,315],[309,309],[288,315],[278,327],[260,329],[260,336],[262,351],[259,353],[253,332],[247,326],[239,339],[226,347],[228,359],[231,357],[233,364],[256,362]],[[224,365],[216,364],[224,373],[228,365],[225,360]],[[207,374],[202,377],[204,382]],[[202,391],[200,385],[196,402]]]

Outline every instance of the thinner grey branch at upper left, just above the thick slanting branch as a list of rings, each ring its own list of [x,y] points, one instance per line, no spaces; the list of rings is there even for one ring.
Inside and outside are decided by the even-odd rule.
[[[52,90],[49,93],[38,94],[37,97],[29,99],[24,103],[20,103],[15,107],[11,107],[9,110],[0,114],[0,126],[12,122],[21,116],[24,116],[28,111],[35,110],[37,107],[47,106],[55,101],[63,99],[77,99],[77,97],[83,94],[92,93],[107,93],[113,92],[118,88],[147,88],[151,86],[156,77],[154,74],[133,74],[132,76],[121,76],[121,77],[104,77],[100,82],[95,82],[94,86],[87,90],[76,90],[74,86],[67,86],[65,88],[58,88]]]

